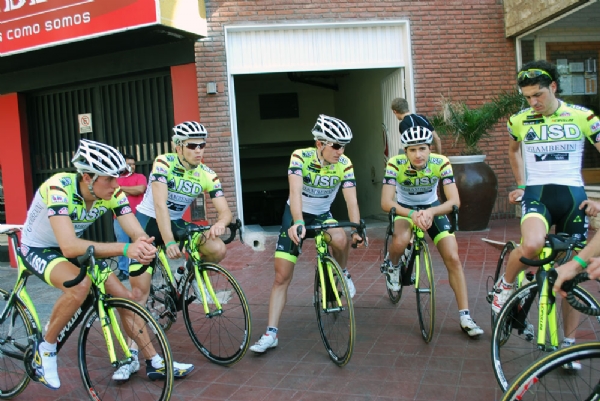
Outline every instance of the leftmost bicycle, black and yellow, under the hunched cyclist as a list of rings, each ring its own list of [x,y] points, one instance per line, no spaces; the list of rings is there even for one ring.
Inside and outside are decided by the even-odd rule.
[[[12,291],[0,289],[0,399],[17,396],[30,380],[40,381],[36,375],[36,368],[40,366],[34,355],[43,341],[43,332],[25,288],[32,273],[25,268],[18,252],[18,231],[14,226],[0,229],[0,233],[7,234],[12,240],[19,269]],[[85,390],[92,400],[169,400],[173,389],[173,360],[160,325],[142,306],[105,292],[104,283],[111,271],[96,263],[93,246],[78,258],[78,262],[81,267],[78,276],[65,282],[65,287],[77,285],[86,274],[92,286],[84,303],[59,333],[58,352],[83,323],[77,346],[78,365]],[[137,343],[140,356],[153,356],[158,352],[164,358],[164,380],[154,381],[142,375],[132,375],[127,382],[112,380],[115,370],[134,361],[128,337]]]

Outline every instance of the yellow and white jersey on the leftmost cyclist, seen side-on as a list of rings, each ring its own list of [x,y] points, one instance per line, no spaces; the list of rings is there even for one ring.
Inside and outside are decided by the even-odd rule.
[[[104,213],[112,210],[116,216],[131,213],[125,192],[117,189],[109,200],[97,199],[90,210],[79,193],[77,174],[59,173],[46,180],[35,193],[23,229],[22,242],[30,247],[58,247],[50,225],[53,216],[68,216],[75,234],[83,232]]]

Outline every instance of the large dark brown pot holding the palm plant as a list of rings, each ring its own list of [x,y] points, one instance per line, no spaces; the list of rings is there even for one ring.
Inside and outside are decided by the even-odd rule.
[[[459,230],[485,230],[498,196],[496,174],[484,163],[485,155],[450,156],[448,159],[460,196]]]

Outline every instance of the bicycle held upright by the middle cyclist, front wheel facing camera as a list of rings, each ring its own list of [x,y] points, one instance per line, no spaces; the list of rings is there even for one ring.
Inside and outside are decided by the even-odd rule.
[[[338,366],[346,365],[352,357],[356,327],[352,298],[349,296],[344,273],[329,252],[328,242],[330,238],[328,238],[327,230],[346,227],[356,229],[358,235],[364,241],[367,240],[367,227],[362,219],[360,224],[335,222],[305,226],[307,235],[310,233],[310,236],[312,236],[314,232],[317,249],[313,296],[317,325],[329,358]],[[302,227],[299,226],[297,230],[298,237],[300,237]],[[303,240],[304,238],[300,238],[299,253],[302,253]],[[357,244],[352,244],[353,248],[356,248],[356,246]],[[365,242],[365,246],[368,246],[368,243]]]

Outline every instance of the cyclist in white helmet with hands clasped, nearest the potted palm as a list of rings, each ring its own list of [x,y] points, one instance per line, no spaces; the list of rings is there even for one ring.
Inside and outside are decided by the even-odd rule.
[[[381,191],[382,209],[389,212],[396,208],[397,213],[390,247],[394,268],[385,273],[386,284],[392,291],[401,289],[400,256],[409,245],[412,225],[416,224],[427,231],[442,255],[458,304],[461,329],[470,337],[477,337],[483,330],[470,316],[467,282],[458,257],[458,244],[454,234],[449,232],[450,222],[446,217],[452,212],[452,206],[460,206],[452,166],[447,157],[431,153],[431,130],[411,127],[402,133],[400,140],[404,154],[388,160]],[[447,199],[444,203],[440,203],[437,197],[440,181]]]

